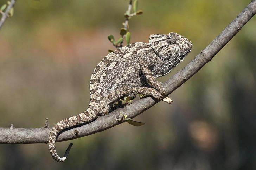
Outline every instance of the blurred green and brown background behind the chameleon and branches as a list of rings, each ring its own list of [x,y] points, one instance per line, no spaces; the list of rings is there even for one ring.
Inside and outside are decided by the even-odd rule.
[[[139,0],[133,42],[176,32],[193,48],[164,82],[190,62],[250,0]],[[0,4],[6,3],[0,0]],[[55,125],[89,104],[96,65],[114,49],[126,0],[17,0],[0,31],[0,127]],[[0,145],[1,170],[256,169],[256,18],[196,75],[134,120],[73,140],[68,159],[47,144]],[[62,156],[71,141],[56,144]]]

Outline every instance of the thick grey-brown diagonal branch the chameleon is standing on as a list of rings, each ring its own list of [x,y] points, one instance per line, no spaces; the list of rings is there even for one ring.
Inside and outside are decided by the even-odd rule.
[[[256,13],[256,0],[252,0],[250,4],[233,20],[216,39],[214,39],[204,50],[202,50],[190,63],[176,73],[171,79],[167,80],[163,86],[167,95],[171,94],[175,89],[185,83],[191,76],[198,72],[241,30],[241,28]],[[125,122],[120,114],[127,115],[127,118],[134,118],[143,111],[154,106],[158,101],[151,97],[142,98],[127,105],[124,108],[116,109],[108,115],[98,117],[96,120],[69,128],[60,133],[57,142],[71,140],[83,136],[88,136],[100,131],[104,131],[118,124]],[[0,128],[0,143],[23,144],[23,143],[48,143],[49,134],[52,127],[23,129],[23,128]],[[76,130],[76,131],[75,131]],[[75,131],[75,133],[74,133]]]

